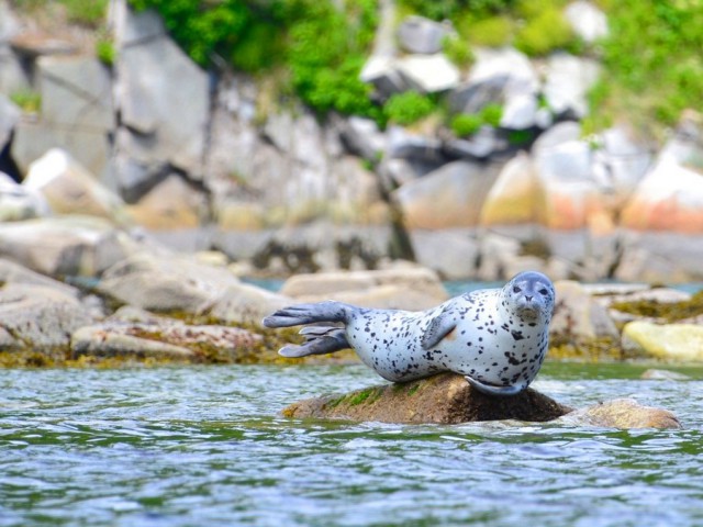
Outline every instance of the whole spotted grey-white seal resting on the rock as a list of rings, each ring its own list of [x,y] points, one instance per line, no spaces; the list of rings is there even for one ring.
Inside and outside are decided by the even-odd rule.
[[[326,301],[284,307],[266,327],[303,327],[305,341],[283,357],[353,348],[382,378],[406,382],[440,371],[466,377],[480,392],[515,395],[535,379],[547,352],[555,290],[544,274],[516,274],[501,289],[465,293],[421,311],[372,310]],[[341,323],[342,325],[330,325]]]

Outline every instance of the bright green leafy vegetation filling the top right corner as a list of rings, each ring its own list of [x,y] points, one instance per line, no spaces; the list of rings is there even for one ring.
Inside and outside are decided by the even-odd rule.
[[[603,1],[610,36],[604,72],[591,92],[587,130],[624,117],[660,136],[703,100],[703,9],[699,1]]]

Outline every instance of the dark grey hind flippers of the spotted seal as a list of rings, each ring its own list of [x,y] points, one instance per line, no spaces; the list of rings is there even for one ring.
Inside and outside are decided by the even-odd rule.
[[[332,322],[346,324],[349,315],[357,307],[342,302],[320,302],[316,304],[298,304],[277,311],[264,318],[266,327],[290,327],[315,322]],[[344,327],[310,326],[300,330],[305,341],[300,345],[284,346],[278,350],[283,357],[306,357],[309,355],[325,355],[349,347]]]

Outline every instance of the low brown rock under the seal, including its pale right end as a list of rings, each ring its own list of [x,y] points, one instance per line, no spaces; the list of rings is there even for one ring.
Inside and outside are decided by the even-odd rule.
[[[404,424],[514,419],[623,429],[681,427],[671,412],[643,406],[632,399],[574,411],[529,388],[511,397],[489,396],[473,390],[456,373],[308,399],[283,408],[282,414],[294,418]]]

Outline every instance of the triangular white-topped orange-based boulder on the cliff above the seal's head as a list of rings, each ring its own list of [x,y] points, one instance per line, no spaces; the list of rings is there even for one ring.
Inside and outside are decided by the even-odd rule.
[[[542,199],[532,159],[527,154],[518,153],[503,166],[488,192],[480,224],[492,227],[537,223]]]

